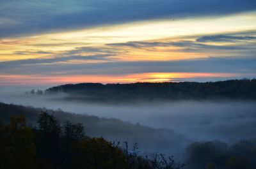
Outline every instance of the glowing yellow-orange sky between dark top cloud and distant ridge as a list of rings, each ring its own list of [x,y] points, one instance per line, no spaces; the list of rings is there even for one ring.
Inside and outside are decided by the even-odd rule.
[[[204,17],[166,15],[68,29],[51,29],[50,23],[49,29],[41,31],[39,27],[38,31],[34,28],[31,32],[23,30],[24,33],[15,29],[13,34],[0,36],[0,83],[169,82],[242,75],[251,78],[256,71],[247,63],[233,71],[228,61],[221,59],[245,59],[248,64],[251,61],[246,59],[255,59],[255,20],[255,10],[244,10]],[[21,20],[7,21],[0,18],[0,23],[10,26],[2,28],[6,33],[22,24]],[[211,64],[212,58],[220,60]],[[196,61],[218,64],[221,70],[198,70]],[[159,62],[170,62],[170,66],[163,67]],[[193,68],[186,65],[188,62],[195,62]]]

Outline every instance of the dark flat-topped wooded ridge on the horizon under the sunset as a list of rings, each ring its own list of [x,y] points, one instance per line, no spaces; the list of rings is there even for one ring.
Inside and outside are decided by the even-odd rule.
[[[220,82],[163,82],[134,84],[66,84],[45,94],[68,94],[88,101],[137,101],[154,99],[256,99],[256,79]]]

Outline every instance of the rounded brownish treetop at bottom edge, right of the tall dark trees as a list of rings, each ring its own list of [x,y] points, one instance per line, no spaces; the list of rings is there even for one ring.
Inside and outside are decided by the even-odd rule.
[[[125,168],[125,154],[120,147],[104,138],[84,138],[76,144],[76,168]]]

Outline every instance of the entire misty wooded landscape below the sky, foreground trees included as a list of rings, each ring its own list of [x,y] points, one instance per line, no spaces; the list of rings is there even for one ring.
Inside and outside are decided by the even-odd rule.
[[[24,90],[1,91],[1,168],[256,168],[256,80]]]

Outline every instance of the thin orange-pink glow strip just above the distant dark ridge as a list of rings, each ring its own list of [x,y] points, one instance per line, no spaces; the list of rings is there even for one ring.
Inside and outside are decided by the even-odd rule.
[[[74,76],[38,76],[38,75],[0,75],[0,85],[61,85],[77,83],[125,84],[136,82],[175,82],[186,78],[200,77],[237,77],[236,73],[135,73],[130,75],[74,75]]]

